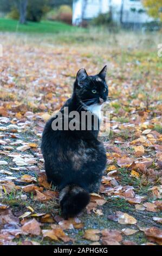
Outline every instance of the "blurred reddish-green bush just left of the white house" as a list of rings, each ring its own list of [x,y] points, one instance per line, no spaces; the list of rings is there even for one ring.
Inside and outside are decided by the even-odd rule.
[[[72,24],[72,8],[70,8],[68,5],[61,5],[60,8],[55,8],[49,11],[49,13],[46,15],[46,19]]]

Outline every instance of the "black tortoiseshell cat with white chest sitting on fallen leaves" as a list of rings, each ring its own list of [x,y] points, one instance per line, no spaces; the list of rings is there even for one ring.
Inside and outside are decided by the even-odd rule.
[[[88,76],[85,69],[77,72],[73,94],[60,109],[68,107],[69,113],[82,111],[91,113],[100,124],[101,107],[107,100],[105,66],[98,75]],[[86,208],[90,193],[98,192],[106,167],[106,151],[98,140],[98,129],[54,130],[51,118],[44,127],[41,150],[48,182],[57,186],[60,192],[62,216],[67,220]],[[68,122],[71,119],[68,119]],[[94,119],[93,119],[94,121]]]

